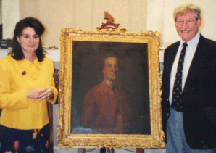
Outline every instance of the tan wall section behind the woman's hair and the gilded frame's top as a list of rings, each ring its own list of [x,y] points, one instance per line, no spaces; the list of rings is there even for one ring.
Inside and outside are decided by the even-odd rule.
[[[45,25],[44,46],[59,47],[62,28],[96,30],[101,22],[106,22],[104,11],[107,10],[122,28],[130,32],[146,30],[147,1],[144,0],[19,0],[19,5],[20,19],[35,16]]]

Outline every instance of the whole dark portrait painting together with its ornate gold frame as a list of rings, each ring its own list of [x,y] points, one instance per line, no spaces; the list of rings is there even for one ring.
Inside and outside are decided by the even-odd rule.
[[[159,33],[62,29],[59,148],[164,148]]]

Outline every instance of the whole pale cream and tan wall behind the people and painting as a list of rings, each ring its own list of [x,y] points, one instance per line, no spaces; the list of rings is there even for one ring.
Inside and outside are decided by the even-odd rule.
[[[3,38],[11,38],[16,22],[26,16],[39,18],[46,27],[44,46],[60,46],[62,28],[96,30],[104,11],[129,32],[145,30],[161,33],[161,46],[179,40],[172,12],[183,3],[198,4],[202,10],[201,33],[216,40],[214,0],[2,0]]]

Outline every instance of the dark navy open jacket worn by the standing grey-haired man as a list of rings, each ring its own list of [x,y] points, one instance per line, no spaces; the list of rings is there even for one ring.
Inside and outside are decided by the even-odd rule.
[[[170,73],[180,42],[167,47],[162,76],[162,121],[170,113]],[[192,149],[216,146],[216,42],[200,36],[183,89],[183,126]]]

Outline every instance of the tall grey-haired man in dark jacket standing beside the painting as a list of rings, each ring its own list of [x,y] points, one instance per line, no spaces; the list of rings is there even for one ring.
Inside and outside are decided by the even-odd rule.
[[[201,9],[173,13],[179,42],[165,50],[162,76],[163,130],[167,153],[215,153],[216,42],[199,33]]]

